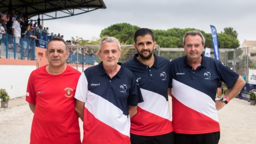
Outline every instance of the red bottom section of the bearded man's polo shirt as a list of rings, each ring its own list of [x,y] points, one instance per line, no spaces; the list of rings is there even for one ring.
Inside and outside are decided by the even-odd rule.
[[[139,121],[137,123],[136,121]],[[143,123],[141,123],[143,121]],[[173,131],[172,122],[138,107],[138,112],[131,119],[130,133],[144,136],[167,134]]]

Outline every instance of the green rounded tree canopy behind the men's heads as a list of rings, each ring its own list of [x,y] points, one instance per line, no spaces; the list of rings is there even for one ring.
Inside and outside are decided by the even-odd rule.
[[[113,24],[100,33],[100,38],[106,36],[113,36],[120,41],[120,44],[132,45],[134,43],[133,36],[139,26],[134,26],[129,23],[117,23]],[[151,29],[155,35],[156,43],[162,48],[181,48],[183,47],[183,36],[187,31],[199,30],[193,28],[172,28],[167,30]],[[199,30],[205,37],[205,47],[213,47],[213,39],[211,33],[205,33],[203,30]],[[224,28],[224,32],[217,33],[219,48],[236,49],[240,46],[237,39],[238,33],[232,27]],[[100,39],[94,39],[93,41],[83,40],[82,38],[76,39],[79,44],[98,44]]]

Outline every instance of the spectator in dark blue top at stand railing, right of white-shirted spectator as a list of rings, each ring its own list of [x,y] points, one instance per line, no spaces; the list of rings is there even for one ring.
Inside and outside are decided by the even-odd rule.
[[[24,36],[24,48],[23,48],[23,56],[27,56],[27,49],[29,48],[29,57],[30,59],[33,59],[33,41],[37,39],[37,36],[33,33],[34,27],[30,26],[30,30],[27,31],[27,33]]]

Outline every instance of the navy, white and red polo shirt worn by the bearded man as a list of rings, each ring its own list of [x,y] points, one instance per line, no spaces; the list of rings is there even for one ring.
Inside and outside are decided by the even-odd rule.
[[[131,119],[130,133],[156,136],[173,131],[172,117],[168,102],[168,88],[171,87],[170,61],[156,56],[151,68],[137,59],[124,62],[140,84],[144,102],[138,104],[138,113]]]

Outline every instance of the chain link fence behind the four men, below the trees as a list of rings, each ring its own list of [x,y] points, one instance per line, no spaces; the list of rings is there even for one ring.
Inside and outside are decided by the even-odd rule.
[[[95,62],[101,62],[96,54],[96,52],[98,52],[97,45],[68,45],[68,49],[71,51],[70,56],[73,56],[69,58],[70,63],[78,62],[82,64],[82,62],[84,62],[84,64],[94,64]],[[137,53],[133,45],[121,45],[121,49],[122,54],[119,62],[122,63],[132,59],[134,54]],[[91,55],[92,52],[94,52],[93,56]],[[180,56],[185,56],[183,48],[160,48],[158,45],[156,49],[154,49],[154,53],[166,59],[175,59]],[[210,56],[214,58],[213,49],[211,50]],[[238,49],[219,49],[219,60],[234,72],[247,77],[249,69],[256,69],[256,46]]]

